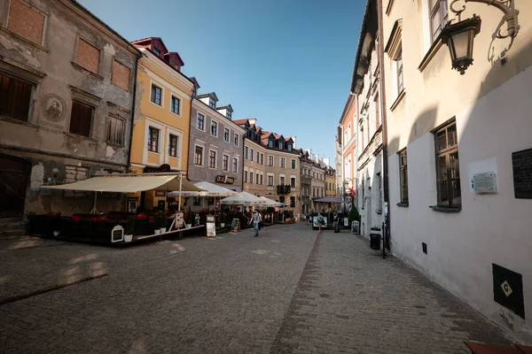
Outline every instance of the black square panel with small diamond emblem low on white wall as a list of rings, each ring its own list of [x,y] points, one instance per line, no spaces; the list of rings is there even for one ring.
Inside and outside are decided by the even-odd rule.
[[[523,276],[504,266],[493,266],[493,299],[525,319]]]

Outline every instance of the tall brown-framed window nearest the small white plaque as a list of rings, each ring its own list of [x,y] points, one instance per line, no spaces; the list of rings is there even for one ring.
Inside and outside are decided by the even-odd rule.
[[[456,122],[452,122],[436,132],[436,179],[438,205],[460,208],[462,197]]]

